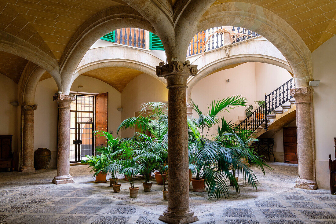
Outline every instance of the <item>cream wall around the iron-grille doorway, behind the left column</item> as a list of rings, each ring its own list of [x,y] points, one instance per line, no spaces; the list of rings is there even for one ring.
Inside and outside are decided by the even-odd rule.
[[[79,89],[78,86],[83,88]],[[112,86],[98,79],[79,76],[74,81],[71,91],[87,93],[109,92],[109,131],[116,135],[117,127],[121,122],[121,94]],[[56,82],[53,78],[45,79],[38,83],[35,95],[35,103],[38,104],[35,111],[34,122],[34,150],[47,147],[52,158],[49,168],[56,167],[57,156],[57,103],[52,101],[52,96],[57,92]]]

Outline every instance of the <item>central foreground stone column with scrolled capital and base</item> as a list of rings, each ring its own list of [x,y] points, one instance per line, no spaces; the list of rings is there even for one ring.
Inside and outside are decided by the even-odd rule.
[[[166,223],[198,221],[189,208],[188,127],[186,108],[187,79],[197,74],[190,62],[163,62],[156,74],[167,80],[168,89],[168,208],[159,220]]]

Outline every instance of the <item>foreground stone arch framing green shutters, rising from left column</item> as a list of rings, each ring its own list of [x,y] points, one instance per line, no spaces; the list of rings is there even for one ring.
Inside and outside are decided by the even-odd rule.
[[[60,63],[62,91],[69,94],[72,76],[85,53],[103,35],[120,28],[134,27],[154,32],[153,26],[129,6],[117,6],[91,17],[75,33]]]

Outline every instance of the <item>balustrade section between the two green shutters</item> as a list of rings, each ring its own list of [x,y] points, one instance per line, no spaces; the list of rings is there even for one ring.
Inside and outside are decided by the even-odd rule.
[[[143,29],[122,28],[116,30],[115,35],[115,43],[145,48],[145,30]]]

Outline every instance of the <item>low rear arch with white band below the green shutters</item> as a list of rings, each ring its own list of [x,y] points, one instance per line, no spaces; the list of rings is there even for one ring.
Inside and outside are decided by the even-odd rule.
[[[158,77],[155,73],[155,66],[159,62],[161,62],[161,59],[154,55],[132,47],[112,46],[93,48],[86,52],[79,63],[71,84],[79,75],[90,70],[106,67],[125,67],[146,73],[166,85],[166,80]]]

